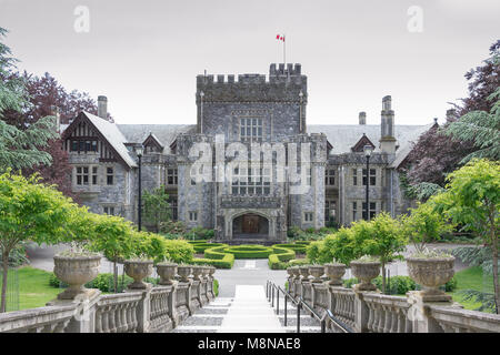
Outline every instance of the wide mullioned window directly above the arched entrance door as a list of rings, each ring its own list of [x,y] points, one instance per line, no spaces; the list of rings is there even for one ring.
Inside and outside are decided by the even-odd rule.
[[[271,192],[270,169],[234,168],[232,176],[233,195],[268,195]]]

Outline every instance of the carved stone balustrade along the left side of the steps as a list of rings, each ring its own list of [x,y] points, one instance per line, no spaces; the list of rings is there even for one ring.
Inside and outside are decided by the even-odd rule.
[[[102,295],[54,300],[0,314],[0,333],[166,333],[214,298],[213,277]]]

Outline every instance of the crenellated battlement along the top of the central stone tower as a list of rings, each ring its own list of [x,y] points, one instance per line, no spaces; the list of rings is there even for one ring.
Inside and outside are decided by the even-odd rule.
[[[300,64],[288,64],[287,69],[271,64],[268,78],[253,73],[197,75],[197,102],[201,97],[204,102],[307,101],[307,77],[301,74]]]

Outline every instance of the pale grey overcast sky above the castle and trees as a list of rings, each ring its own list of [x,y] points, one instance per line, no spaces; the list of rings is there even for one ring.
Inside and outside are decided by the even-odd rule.
[[[88,32],[74,30],[79,6]],[[196,75],[268,74],[283,61],[277,33],[308,75],[308,123],[357,124],[367,111],[379,124],[387,94],[397,124],[443,121],[499,18],[498,0],[0,0],[19,68],[107,95],[117,123],[196,123]]]

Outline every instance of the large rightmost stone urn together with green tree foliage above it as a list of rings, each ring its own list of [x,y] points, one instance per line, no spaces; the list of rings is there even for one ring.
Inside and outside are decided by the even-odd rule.
[[[421,203],[411,210],[409,216],[402,219],[403,231],[414,245],[414,252],[407,257],[408,274],[422,285],[423,291],[420,294],[423,301],[429,302],[451,301],[451,296],[439,287],[454,274],[454,257],[451,254],[426,247],[428,242],[438,240],[451,229],[434,211],[436,202],[437,200],[431,199]]]

